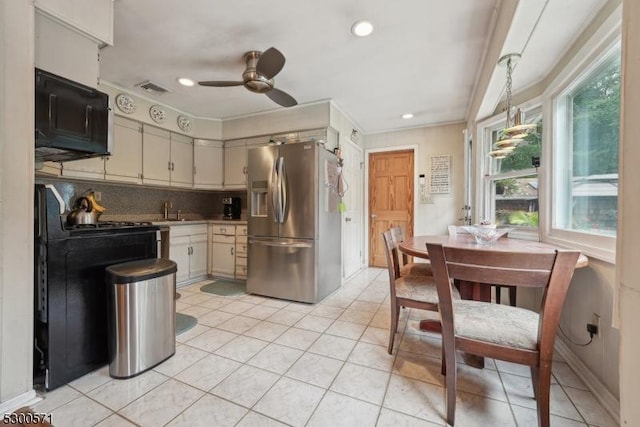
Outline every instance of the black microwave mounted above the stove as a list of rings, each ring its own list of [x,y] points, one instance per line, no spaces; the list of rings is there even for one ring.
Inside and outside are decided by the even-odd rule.
[[[64,162],[109,155],[109,96],[35,70],[36,161]]]

